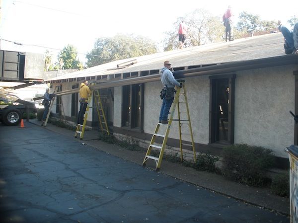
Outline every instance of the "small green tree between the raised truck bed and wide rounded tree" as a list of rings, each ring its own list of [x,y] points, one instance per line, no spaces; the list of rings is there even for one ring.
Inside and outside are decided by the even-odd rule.
[[[83,65],[76,59],[77,52],[73,45],[68,44],[58,55],[58,61],[61,65],[60,68],[64,69],[82,69]]]

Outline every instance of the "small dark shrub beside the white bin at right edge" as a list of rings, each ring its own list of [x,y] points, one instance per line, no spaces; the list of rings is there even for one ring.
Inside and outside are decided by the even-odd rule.
[[[271,191],[272,193],[278,196],[289,197],[290,196],[289,173],[275,175],[272,178]]]

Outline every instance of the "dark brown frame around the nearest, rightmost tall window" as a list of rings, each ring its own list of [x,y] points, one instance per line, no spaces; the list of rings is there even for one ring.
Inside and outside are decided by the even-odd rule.
[[[234,143],[234,106],[235,106],[235,74],[214,75],[210,76],[210,104],[209,104],[209,144],[213,145],[231,145]],[[220,79],[228,80],[229,94],[228,94],[228,131],[227,141],[216,141],[216,120],[214,114],[214,103],[216,103],[216,89],[215,82]]]

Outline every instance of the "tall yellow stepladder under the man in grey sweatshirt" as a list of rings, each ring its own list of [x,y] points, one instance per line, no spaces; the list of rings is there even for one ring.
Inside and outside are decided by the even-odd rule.
[[[175,96],[174,102],[171,106],[170,118],[169,118],[168,123],[167,124],[162,124],[160,122],[157,123],[157,125],[155,127],[155,130],[154,130],[154,133],[152,135],[152,138],[151,138],[151,141],[150,141],[146,156],[145,156],[144,161],[143,161],[143,167],[145,167],[146,162],[149,159],[151,159],[151,160],[155,161],[155,164],[156,164],[155,170],[157,171],[157,170],[160,169],[161,161],[162,161],[164,149],[166,147],[166,142],[167,142],[167,139],[168,139],[168,136],[169,136],[169,133],[170,133],[172,121],[178,121],[178,123],[179,123],[179,140],[180,140],[179,145],[180,145],[180,152],[181,152],[181,161],[183,161],[182,147],[183,146],[191,146],[192,150],[193,150],[194,162],[196,162],[196,150],[195,150],[195,144],[194,144],[194,139],[193,139],[193,132],[192,132],[192,127],[191,127],[189,108],[188,108],[188,103],[187,103],[185,81],[184,80],[178,80],[178,82],[183,83],[183,87],[182,88],[178,87],[176,89],[177,90],[176,91],[176,96]],[[179,100],[180,96],[183,96],[184,100]],[[173,119],[176,106],[178,108],[178,119]],[[186,110],[186,112],[181,111],[183,109],[183,107],[185,107],[184,109]],[[185,115],[186,115],[186,117],[185,117]],[[186,119],[182,119],[182,117],[183,118],[185,117]],[[182,135],[184,133],[182,133],[181,127],[182,127],[183,124],[188,125],[191,144],[185,144],[182,141]],[[162,125],[166,125],[166,129],[165,129],[164,134],[159,133],[159,127],[162,126]],[[163,138],[161,146],[154,144],[156,138]],[[153,148],[159,150],[159,156],[158,157],[154,157],[154,156],[150,155]]]

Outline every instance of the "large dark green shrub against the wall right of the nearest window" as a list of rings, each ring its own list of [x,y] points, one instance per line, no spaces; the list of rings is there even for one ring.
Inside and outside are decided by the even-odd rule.
[[[223,174],[249,186],[264,186],[270,182],[268,168],[273,166],[272,150],[247,144],[230,145],[223,150]]]

